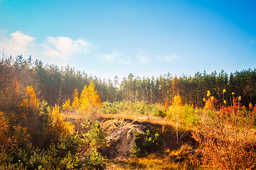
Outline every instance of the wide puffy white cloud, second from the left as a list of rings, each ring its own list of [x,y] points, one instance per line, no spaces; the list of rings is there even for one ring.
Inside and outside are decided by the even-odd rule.
[[[75,54],[86,54],[89,50],[90,43],[80,38],[72,40],[68,37],[48,37],[46,43],[42,46],[44,48],[43,54],[51,58],[61,58],[68,60]]]

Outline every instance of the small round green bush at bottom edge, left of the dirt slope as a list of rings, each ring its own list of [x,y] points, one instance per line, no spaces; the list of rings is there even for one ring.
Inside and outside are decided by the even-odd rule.
[[[87,169],[104,169],[106,164],[107,159],[95,150],[92,150],[86,159]]]

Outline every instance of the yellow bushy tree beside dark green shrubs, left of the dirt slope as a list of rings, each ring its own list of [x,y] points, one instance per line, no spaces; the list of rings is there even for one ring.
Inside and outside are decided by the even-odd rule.
[[[50,135],[58,140],[59,137],[67,136],[75,132],[75,126],[64,120],[64,115],[60,113],[60,107],[55,104],[53,111],[50,113]]]

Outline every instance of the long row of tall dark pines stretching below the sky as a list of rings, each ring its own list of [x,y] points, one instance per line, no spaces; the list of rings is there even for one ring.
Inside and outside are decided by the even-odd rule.
[[[170,104],[179,94],[183,103],[203,107],[207,91],[220,102],[232,103],[231,94],[241,96],[241,103],[256,104],[256,69],[244,69],[227,74],[223,70],[208,74],[197,72],[193,76],[179,77],[164,74],[159,77],[135,77],[129,74],[119,81],[118,77],[100,79],[67,67],[44,64],[32,57],[24,59],[21,55],[2,59],[0,62],[0,108],[16,106],[19,94],[26,86],[33,86],[39,98],[45,98],[53,106],[70,98],[75,91],[80,94],[85,85],[95,84],[101,101],[147,101],[149,103]],[[223,93],[223,89],[226,93]],[[71,101],[73,102],[73,101]]]

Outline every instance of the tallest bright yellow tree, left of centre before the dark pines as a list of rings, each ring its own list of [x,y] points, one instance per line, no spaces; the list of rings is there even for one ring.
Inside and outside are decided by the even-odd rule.
[[[82,111],[82,113],[88,113],[92,111],[93,108],[101,106],[100,96],[97,94],[97,91],[95,90],[95,84],[91,82],[90,86],[87,87],[85,85],[80,95],[79,102],[79,109],[80,111]]]

